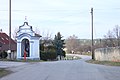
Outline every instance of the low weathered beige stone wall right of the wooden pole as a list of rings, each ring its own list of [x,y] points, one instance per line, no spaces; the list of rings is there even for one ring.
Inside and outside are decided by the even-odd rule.
[[[120,62],[120,47],[96,49],[95,60]]]

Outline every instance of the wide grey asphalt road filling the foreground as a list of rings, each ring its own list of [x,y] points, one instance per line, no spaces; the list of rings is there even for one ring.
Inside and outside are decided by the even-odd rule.
[[[85,62],[90,57],[82,56],[82,58],[54,62],[16,63],[8,68],[14,73],[0,80],[120,80],[120,67],[90,64]]]

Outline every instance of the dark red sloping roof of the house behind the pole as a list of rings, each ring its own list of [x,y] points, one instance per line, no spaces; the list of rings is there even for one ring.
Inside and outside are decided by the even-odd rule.
[[[16,42],[11,39],[11,50],[17,50]],[[0,50],[9,50],[9,36],[6,33],[0,32]]]

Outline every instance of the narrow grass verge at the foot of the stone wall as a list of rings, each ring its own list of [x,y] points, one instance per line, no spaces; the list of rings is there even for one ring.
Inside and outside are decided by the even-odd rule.
[[[102,65],[108,65],[108,66],[120,66],[120,62],[112,62],[112,61],[97,61],[97,60],[87,60],[88,63],[93,64],[102,64]]]

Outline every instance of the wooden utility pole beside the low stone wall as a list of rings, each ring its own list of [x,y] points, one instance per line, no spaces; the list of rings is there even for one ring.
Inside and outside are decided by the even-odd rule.
[[[91,27],[92,27],[92,45],[91,45],[91,52],[92,52],[92,59],[95,59],[95,55],[94,55],[94,41],[93,41],[93,8],[91,8]]]

